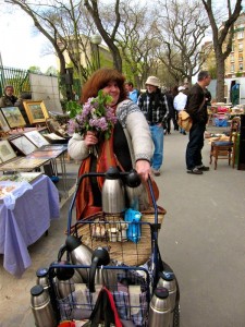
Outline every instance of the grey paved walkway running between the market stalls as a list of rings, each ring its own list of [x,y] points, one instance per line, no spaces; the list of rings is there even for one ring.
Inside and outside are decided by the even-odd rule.
[[[181,327],[245,326],[245,171],[218,162],[203,175],[185,170],[188,136],[172,131],[164,140],[160,199],[168,214],[159,235],[163,259],[181,288]],[[206,141],[204,162],[210,145]],[[72,165],[69,169],[76,170]],[[64,242],[68,203],[49,235],[29,246],[33,265],[21,279],[2,268],[0,256],[0,327],[34,327],[29,289],[37,268],[57,258]]]

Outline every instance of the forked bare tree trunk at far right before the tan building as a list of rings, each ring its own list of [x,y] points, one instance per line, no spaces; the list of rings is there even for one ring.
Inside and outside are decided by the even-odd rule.
[[[211,0],[201,0],[212,28],[212,43],[217,63],[217,100],[224,101],[224,61],[232,50],[234,23],[242,11],[242,0],[226,0],[226,20],[218,27],[216,12]],[[233,8],[231,5],[233,3]]]

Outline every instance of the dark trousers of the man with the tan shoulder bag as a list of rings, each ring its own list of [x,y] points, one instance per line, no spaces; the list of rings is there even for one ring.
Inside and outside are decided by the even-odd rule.
[[[188,170],[203,165],[201,149],[204,147],[205,124],[195,123],[189,131],[186,148],[186,167]]]

